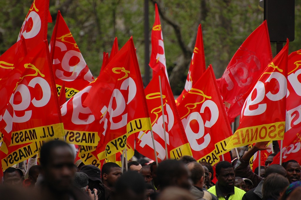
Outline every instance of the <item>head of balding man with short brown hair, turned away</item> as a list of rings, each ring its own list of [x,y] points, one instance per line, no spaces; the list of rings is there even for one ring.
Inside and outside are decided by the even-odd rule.
[[[190,178],[193,185],[203,188],[205,174],[203,166],[198,162],[190,162],[186,166],[190,171]]]

